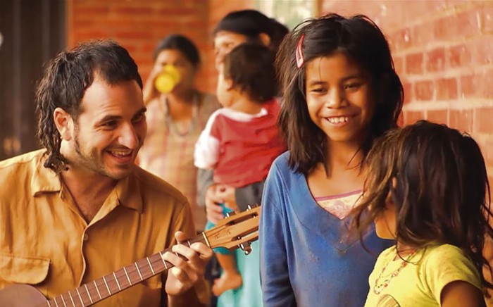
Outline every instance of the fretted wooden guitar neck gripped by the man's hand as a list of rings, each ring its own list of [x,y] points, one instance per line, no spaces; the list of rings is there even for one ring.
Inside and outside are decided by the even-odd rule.
[[[206,234],[202,232],[193,239],[182,242],[188,246],[196,242],[202,242],[208,244]],[[132,287],[134,284],[138,284],[144,280],[147,280],[153,276],[160,274],[170,268],[173,265],[163,258],[166,251],[171,249],[165,249],[149,257],[140,259],[131,265],[127,265],[120,270],[116,270],[111,274],[105,275],[97,280],[82,284],[77,289],[70,290],[64,294],[54,297],[49,301],[46,301],[45,306],[90,306],[94,303],[102,301],[109,296],[122,292],[123,290]],[[179,256],[177,254],[177,256]]]

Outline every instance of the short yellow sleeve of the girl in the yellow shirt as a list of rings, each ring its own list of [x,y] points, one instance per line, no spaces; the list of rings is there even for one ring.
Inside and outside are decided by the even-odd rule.
[[[478,270],[473,261],[456,246],[444,244],[432,250],[425,263],[425,280],[437,303],[447,284],[464,281],[482,290]]]

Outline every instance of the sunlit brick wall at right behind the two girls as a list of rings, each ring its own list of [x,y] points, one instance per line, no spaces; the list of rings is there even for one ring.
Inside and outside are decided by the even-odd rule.
[[[482,147],[493,182],[493,1],[323,1],[365,13],[389,38],[404,83],[404,124],[445,123]]]

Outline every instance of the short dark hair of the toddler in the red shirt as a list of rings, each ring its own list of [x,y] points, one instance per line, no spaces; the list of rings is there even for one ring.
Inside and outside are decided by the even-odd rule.
[[[239,44],[224,57],[224,77],[251,100],[269,101],[276,94],[274,56],[266,46]]]

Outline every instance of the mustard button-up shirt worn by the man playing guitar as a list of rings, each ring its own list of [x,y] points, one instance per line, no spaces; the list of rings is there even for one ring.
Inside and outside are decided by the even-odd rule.
[[[43,152],[0,162],[0,289],[31,284],[51,298],[172,246],[177,230],[194,235],[185,196],[137,166],[86,223]],[[159,306],[162,280],[95,306]]]

